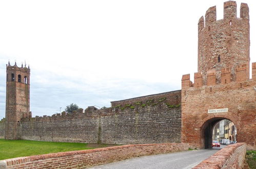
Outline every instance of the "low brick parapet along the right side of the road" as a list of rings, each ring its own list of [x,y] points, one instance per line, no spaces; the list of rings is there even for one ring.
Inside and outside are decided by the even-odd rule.
[[[246,143],[226,146],[193,168],[243,168]]]

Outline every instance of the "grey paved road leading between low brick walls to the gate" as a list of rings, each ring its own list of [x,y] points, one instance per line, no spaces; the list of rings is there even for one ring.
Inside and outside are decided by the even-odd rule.
[[[124,161],[114,162],[105,165],[98,165],[92,168],[101,168],[101,169],[130,169],[130,168],[192,168],[195,165],[199,164],[201,161],[205,160],[209,156],[213,155],[225,145],[221,145],[221,148],[214,147],[213,149],[204,149],[204,150],[193,150],[187,152],[178,152],[178,153],[168,153],[168,154],[159,154],[152,156],[144,156],[132,158]]]

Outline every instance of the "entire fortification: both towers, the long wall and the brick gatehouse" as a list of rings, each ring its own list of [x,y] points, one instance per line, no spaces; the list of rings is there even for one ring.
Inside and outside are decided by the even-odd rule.
[[[215,7],[200,18],[198,72],[194,83],[189,74],[183,75],[179,91],[113,101],[111,108],[102,110],[31,118],[29,82],[9,81],[8,76],[0,137],[110,144],[182,141],[202,149],[210,147],[212,126],[229,119],[237,126],[238,141],[256,149],[256,63],[249,79],[249,9],[242,3],[240,18],[236,10],[236,3],[229,1],[223,19],[216,20]],[[29,72],[7,66],[7,74],[29,77]],[[223,108],[228,112],[207,113]]]

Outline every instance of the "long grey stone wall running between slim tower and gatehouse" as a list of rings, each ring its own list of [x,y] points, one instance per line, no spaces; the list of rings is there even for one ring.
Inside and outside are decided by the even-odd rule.
[[[108,144],[181,142],[181,107],[176,103],[161,97],[86,113],[80,110],[23,118],[22,139]]]

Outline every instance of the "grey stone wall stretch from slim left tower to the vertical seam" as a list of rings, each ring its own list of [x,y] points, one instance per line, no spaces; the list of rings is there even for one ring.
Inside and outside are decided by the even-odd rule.
[[[62,113],[62,115],[24,118],[22,139],[96,143],[98,129],[99,114]]]

